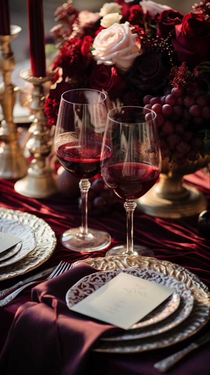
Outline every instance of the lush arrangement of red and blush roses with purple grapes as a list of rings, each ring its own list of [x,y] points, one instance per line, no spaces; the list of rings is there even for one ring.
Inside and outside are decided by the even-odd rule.
[[[150,0],[79,12],[69,0],[51,30],[59,53],[45,103],[49,124],[63,92],[95,89],[107,93],[110,108],[156,112],[163,159],[183,165],[209,154],[209,13],[208,0],[186,15]]]

